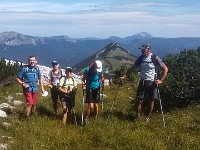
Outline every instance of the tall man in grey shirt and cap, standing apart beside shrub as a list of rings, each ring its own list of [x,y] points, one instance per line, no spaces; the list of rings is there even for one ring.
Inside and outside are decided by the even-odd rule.
[[[143,44],[141,48],[141,55],[136,60],[135,64],[128,69],[127,75],[131,73],[133,69],[140,66],[140,83],[137,90],[138,107],[137,115],[140,117],[142,103],[145,96],[148,96],[148,103],[150,105],[149,113],[146,116],[146,120],[149,121],[149,117],[154,108],[154,100],[158,98],[157,88],[159,84],[162,84],[167,76],[168,68],[161,61],[161,59],[155,54],[151,53],[151,47],[148,44]],[[157,77],[157,67],[161,68],[163,73],[160,79]],[[120,77],[123,80],[126,77]]]

